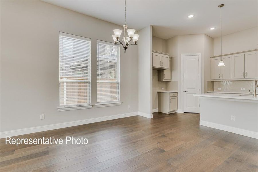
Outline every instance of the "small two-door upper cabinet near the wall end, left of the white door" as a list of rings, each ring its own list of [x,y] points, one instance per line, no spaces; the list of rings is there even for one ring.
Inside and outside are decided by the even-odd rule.
[[[156,70],[169,69],[169,54],[153,51],[152,67]]]

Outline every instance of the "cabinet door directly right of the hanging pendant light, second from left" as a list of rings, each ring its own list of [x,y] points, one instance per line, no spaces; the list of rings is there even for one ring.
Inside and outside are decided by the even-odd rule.
[[[221,67],[221,79],[232,79],[232,56],[223,56],[225,66]]]

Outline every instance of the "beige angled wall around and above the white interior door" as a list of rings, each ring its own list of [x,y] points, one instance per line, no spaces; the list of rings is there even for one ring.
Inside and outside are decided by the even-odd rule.
[[[207,91],[210,80],[210,56],[213,52],[213,39],[205,34],[179,35],[166,40],[167,53],[172,58],[172,82],[167,89],[178,90],[178,109],[182,109],[181,90],[181,54],[201,53],[202,58],[202,93]],[[206,73],[207,71],[207,73]],[[177,85],[177,88],[175,88]]]

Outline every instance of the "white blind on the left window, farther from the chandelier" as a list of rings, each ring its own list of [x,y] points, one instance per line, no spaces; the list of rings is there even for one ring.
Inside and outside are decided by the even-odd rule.
[[[91,40],[59,34],[59,103],[60,106],[90,104]]]

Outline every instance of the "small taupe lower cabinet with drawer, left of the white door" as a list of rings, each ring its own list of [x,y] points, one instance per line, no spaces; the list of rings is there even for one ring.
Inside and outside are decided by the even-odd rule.
[[[165,114],[177,111],[177,92],[158,91],[158,110]]]

